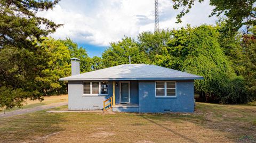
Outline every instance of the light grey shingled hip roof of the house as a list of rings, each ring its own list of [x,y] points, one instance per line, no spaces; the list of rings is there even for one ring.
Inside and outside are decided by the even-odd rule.
[[[59,80],[194,80],[203,77],[157,65],[122,64]]]

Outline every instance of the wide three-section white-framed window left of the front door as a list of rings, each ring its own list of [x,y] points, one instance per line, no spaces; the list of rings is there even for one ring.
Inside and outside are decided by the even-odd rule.
[[[83,82],[84,95],[108,95],[108,82]]]

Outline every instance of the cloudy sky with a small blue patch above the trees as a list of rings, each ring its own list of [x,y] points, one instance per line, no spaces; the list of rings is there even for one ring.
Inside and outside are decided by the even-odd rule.
[[[215,24],[209,18],[209,0],[195,3],[194,7],[175,23],[180,10],[172,8],[171,0],[159,0],[159,28],[177,29],[201,24]],[[64,24],[50,36],[57,39],[71,38],[86,49],[90,57],[101,56],[109,43],[124,36],[136,38],[143,31],[154,31],[154,0],[61,0],[53,10],[38,12],[38,16]]]

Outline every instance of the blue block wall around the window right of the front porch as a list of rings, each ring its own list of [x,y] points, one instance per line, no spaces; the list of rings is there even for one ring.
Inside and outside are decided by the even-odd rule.
[[[194,112],[194,81],[177,81],[177,97],[156,97],[155,81],[139,82],[139,112]]]

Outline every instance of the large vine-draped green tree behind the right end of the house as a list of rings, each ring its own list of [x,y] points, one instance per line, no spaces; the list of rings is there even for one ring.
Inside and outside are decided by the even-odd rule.
[[[207,102],[246,103],[250,101],[246,94],[244,77],[236,76],[232,61],[225,54],[227,50],[233,52],[230,56],[235,55],[233,49],[239,48],[238,41],[227,40],[228,42],[221,43],[220,27],[203,25],[191,28],[188,26],[162,33],[165,36],[155,32],[140,35],[141,37],[138,38],[141,50],[150,49],[149,53],[153,53],[149,54],[153,64],[202,75],[204,80],[195,81],[195,90]],[[156,40],[163,39],[161,37],[166,38]],[[143,42],[140,41],[141,39]],[[143,46],[140,45],[141,43]],[[151,48],[151,45],[155,45],[152,43],[158,43],[157,45],[161,46]],[[226,48],[230,46],[230,49],[222,48],[220,43],[226,45]]]

